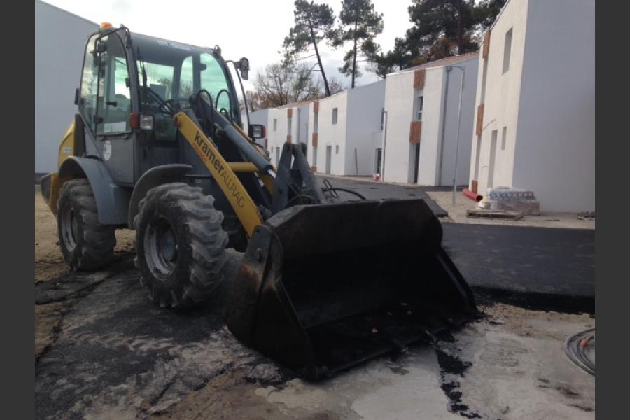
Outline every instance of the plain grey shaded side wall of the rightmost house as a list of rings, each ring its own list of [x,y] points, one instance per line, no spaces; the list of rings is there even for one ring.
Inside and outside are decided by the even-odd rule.
[[[530,1],[514,186],[595,210],[595,1]]]

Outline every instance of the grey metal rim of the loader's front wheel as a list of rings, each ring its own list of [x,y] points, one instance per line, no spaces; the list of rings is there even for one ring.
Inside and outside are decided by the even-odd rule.
[[[144,235],[144,255],[148,269],[162,281],[175,271],[178,256],[177,238],[172,225],[165,218],[149,223]]]

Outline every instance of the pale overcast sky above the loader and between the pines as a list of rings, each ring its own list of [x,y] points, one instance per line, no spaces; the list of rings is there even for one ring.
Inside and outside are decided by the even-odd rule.
[[[293,0],[44,0],[93,22],[121,23],[132,32],[167,38],[172,41],[205,47],[219,45],[225,59],[248,57],[251,73],[246,90],[250,90],[255,73],[267,64],[281,60],[284,37],[293,26]],[[384,30],[377,37],[383,50],[393,47],[396,36],[405,34],[412,24],[407,7],[410,0],[372,0],[383,13]],[[316,0],[316,3],[325,3]],[[328,1],[339,14],[341,0]],[[320,45],[326,76],[343,79],[337,67],[342,65],[344,49],[332,50]],[[349,44],[346,48],[349,48]],[[316,63],[315,58],[304,60]],[[363,68],[358,85],[378,80]]]

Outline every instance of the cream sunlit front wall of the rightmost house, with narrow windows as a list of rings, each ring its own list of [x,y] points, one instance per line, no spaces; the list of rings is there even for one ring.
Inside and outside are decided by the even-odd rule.
[[[477,176],[477,192],[486,195],[490,172],[491,138],[493,130],[497,132],[496,155],[494,160],[493,186],[512,186],[512,170],[514,168],[514,151],[516,133],[519,121],[519,97],[521,93],[521,74],[523,67],[526,16],[528,13],[527,0],[509,1],[500,17],[491,29],[489,54],[486,59],[479,59],[479,73],[477,89],[478,100],[482,97],[484,104],[483,132],[479,151],[479,171]],[[503,73],[503,50],[505,34],[512,28],[512,48],[510,55],[510,69]],[[482,47],[483,48],[483,47]],[[485,91],[483,68],[487,60],[485,75]],[[477,120],[477,105],[475,104],[475,118]],[[503,127],[506,127],[505,150],[501,149]],[[470,179],[474,179],[475,160],[477,155],[477,137],[472,141],[470,153]]]

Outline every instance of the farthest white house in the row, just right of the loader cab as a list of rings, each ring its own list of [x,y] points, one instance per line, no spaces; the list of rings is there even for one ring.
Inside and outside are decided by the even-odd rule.
[[[295,102],[278,108],[267,109],[267,148],[272,163],[276,167],[280,160],[282,146],[286,141],[308,145],[310,103],[311,101]]]

